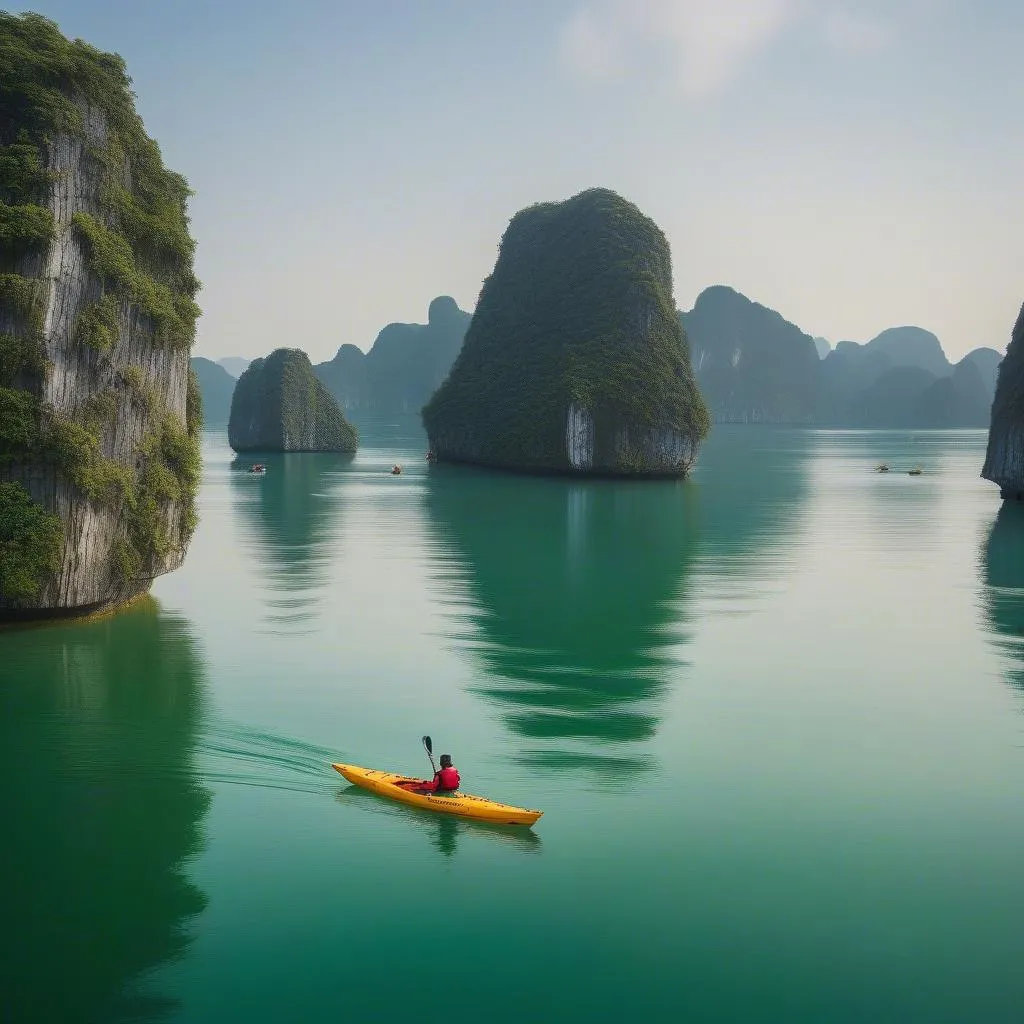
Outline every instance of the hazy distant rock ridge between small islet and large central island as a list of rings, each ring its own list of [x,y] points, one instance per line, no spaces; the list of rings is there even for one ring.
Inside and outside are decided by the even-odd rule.
[[[440,295],[426,324],[389,324],[369,352],[342,345],[313,369],[347,412],[419,413],[452,369],[469,322],[455,299]]]

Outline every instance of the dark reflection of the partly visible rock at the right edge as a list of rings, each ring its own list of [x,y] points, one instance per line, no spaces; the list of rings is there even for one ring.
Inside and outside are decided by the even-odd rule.
[[[1004,502],[984,549],[984,606],[998,645],[1011,658],[1010,679],[1024,688],[1024,506]]]

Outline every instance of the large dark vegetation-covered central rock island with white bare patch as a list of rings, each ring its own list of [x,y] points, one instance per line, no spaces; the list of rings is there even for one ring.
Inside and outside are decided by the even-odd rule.
[[[684,474],[710,418],[657,225],[598,188],[517,213],[423,420],[441,460]]]

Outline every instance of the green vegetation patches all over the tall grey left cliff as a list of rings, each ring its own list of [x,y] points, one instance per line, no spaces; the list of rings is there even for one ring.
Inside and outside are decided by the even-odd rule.
[[[52,190],[59,182],[49,167],[54,145],[70,136],[82,147],[80,173],[91,210],[78,209],[70,225],[91,276],[75,339],[109,352],[137,311],[154,343],[188,348],[200,312],[188,185],[164,167],[146,135],[117,54],[65,38],[38,14],[0,12],[0,323],[6,327],[0,333],[0,470],[54,466],[84,498],[116,512],[124,536],[113,569],[124,581],[166,553],[172,525],[182,540],[195,526],[199,392],[190,386],[188,423],[182,423],[162,407],[139,367],[122,366],[116,379],[141,403],[145,433],[130,460],[104,456],[120,396],[110,388],[93,393],[74,418],[43,400],[52,371],[43,337],[49,284],[29,274],[38,272],[30,269],[33,257],[54,239]],[[18,519],[28,531],[22,543],[27,551],[49,552],[59,520],[35,508]],[[41,573],[36,587],[19,584],[16,594],[8,588],[0,596],[38,590],[52,566],[41,557],[31,564]],[[24,574],[18,579],[24,583]]]

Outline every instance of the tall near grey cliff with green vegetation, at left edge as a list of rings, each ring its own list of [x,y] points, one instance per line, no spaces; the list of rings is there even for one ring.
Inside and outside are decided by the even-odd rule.
[[[0,67],[9,617],[119,602],[180,565],[202,410],[188,188],[145,135],[124,63],[0,13]]]

